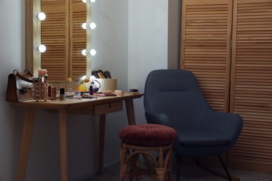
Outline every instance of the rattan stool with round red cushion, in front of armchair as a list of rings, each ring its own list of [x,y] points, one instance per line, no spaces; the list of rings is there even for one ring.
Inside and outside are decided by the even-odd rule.
[[[119,137],[121,139],[119,181],[123,178],[133,180],[133,176],[136,175],[149,175],[163,181],[167,180],[166,173],[168,180],[173,180],[171,161],[172,143],[176,139],[175,129],[155,124],[130,125],[121,129]],[[144,157],[148,168],[140,166],[139,155]]]

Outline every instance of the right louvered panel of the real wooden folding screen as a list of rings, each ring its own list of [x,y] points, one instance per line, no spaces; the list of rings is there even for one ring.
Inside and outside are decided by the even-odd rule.
[[[272,172],[272,1],[234,0],[230,111],[244,120],[229,166]]]

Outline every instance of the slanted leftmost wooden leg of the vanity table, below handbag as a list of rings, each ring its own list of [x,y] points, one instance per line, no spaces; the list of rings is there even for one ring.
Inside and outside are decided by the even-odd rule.
[[[19,156],[19,166],[17,171],[17,181],[23,181],[26,170],[27,160],[29,157],[29,148],[33,132],[36,109],[27,109],[24,115],[24,126],[22,129],[22,142]]]

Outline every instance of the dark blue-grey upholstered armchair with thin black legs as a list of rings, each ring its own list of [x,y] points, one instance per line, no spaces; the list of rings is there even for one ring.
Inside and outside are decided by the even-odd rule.
[[[241,134],[243,119],[209,107],[197,79],[188,70],[153,70],[146,78],[144,109],[147,123],[176,129],[173,150],[180,156],[202,157],[227,152]],[[176,180],[181,167],[178,160]]]

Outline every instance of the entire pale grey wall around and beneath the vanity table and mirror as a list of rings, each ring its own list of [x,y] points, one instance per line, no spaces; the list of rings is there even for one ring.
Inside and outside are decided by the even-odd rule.
[[[121,90],[139,88],[139,91],[144,91],[146,75],[151,70],[167,68],[167,12],[167,0],[97,0],[93,4],[93,21],[97,24],[92,39],[93,48],[97,51],[93,69],[110,70],[112,76],[118,79]],[[24,1],[1,0],[0,24],[0,180],[15,180],[24,114],[21,109],[10,107],[5,102],[5,96],[8,74],[14,69],[25,68]],[[144,123],[142,98],[135,100],[135,113],[137,123]],[[106,166],[118,162],[117,134],[126,125],[125,111],[107,115]],[[59,180],[58,128],[55,113],[38,110],[29,152],[27,181]],[[97,129],[97,117],[68,116],[70,180],[83,180],[95,173]]]

